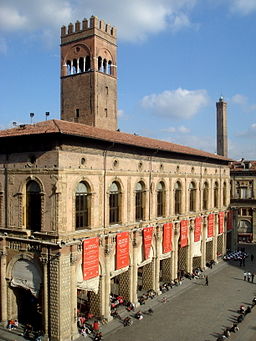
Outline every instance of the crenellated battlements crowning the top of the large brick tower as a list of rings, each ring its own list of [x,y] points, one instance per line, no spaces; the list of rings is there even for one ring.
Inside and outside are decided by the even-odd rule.
[[[82,33],[91,30],[99,30],[101,32],[104,32],[105,34],[108,34],[112,36],[113,38],[116,38],[116,28],[114,26],[111,26],[109,24],[106,24],[104,20],[99,20],[96,16],[91,16],[91,18],[84,19],[82,22],[77,20],[75,24],[70,23],[68,26],[62,26],[61,27],[61,38],[65,38],[70,35],[74,35],[77,33]]]

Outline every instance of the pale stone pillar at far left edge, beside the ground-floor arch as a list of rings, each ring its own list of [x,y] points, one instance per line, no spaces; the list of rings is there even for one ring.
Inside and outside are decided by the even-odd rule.
[[[5,241],[4,243],[5,244]],[[7,316],[7,282],[6,282],[6,249],[3,245],[0,251],[0,285],[1,285],[1,321],[6,321]]]

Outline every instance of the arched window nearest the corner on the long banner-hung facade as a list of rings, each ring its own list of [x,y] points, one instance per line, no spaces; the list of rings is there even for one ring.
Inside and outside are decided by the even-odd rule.
[[[85,182],[76,187],[76,229],[90,226],[91,191]]]

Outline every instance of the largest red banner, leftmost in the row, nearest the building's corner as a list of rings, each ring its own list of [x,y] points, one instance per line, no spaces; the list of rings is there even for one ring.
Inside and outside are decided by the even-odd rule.
[[[83,241],[83,277],[88,280],[99,276],[99,238]]]

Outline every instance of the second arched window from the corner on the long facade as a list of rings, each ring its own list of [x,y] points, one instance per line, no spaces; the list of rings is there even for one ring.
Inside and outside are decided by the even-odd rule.
[[[121,191],[118,182],[112,182],[109,193],[109,223],[118,224],[121,218]]]

